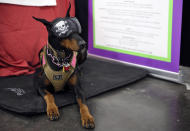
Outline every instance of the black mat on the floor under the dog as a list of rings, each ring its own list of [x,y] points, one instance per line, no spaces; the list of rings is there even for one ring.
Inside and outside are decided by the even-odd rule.
[[[147,75],[147,71],[120,63],[88,58],[81,68],[81,85],[87,98],[135,82]],[[46,104],[38,94],[33,75],[0,78],[0,107],[22,114],[46,111]],[[55,94],[59,107],[75,103],[72,91]]]

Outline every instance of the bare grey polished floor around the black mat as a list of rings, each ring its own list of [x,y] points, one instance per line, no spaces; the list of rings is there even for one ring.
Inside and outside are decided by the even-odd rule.
[[[181,67],[190,83],[190,68]],[[190,91],[147,77],[88,100],[94,131],[190,131]],[[22,116],[0,110],[0,131],[85,131],[77,105],[60,109],[59,121],[45,114]]]

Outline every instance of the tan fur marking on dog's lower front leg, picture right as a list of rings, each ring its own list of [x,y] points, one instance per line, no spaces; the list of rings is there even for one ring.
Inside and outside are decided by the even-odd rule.
[[[94,118],[90,114],[88,107],[82,103],[81,99],[77,99],[77,102],[80,107],[82,126],[86,128],[94,128]]]

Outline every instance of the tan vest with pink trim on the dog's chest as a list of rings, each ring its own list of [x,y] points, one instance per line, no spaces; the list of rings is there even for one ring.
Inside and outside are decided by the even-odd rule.
[[[47,78],[52,83],[55,91],[57,92],[57,91],[64,89],[63,87],[64,87],[65,83],[68,81],[68,79],[73,74],[75,67],[76,67],[77,52],[73,51],[73,57],[71,59],[71,62],[69,63],[70,67],[69,67],[68,71],[65,71],[64,67],[60,71],[53,70],[47,61],[46,53],[47,53],[47,46],[44,47],[43,55],[41,56],[42,66],[43,66],[43,69],[44,69],[44,72],[45,72]]]

